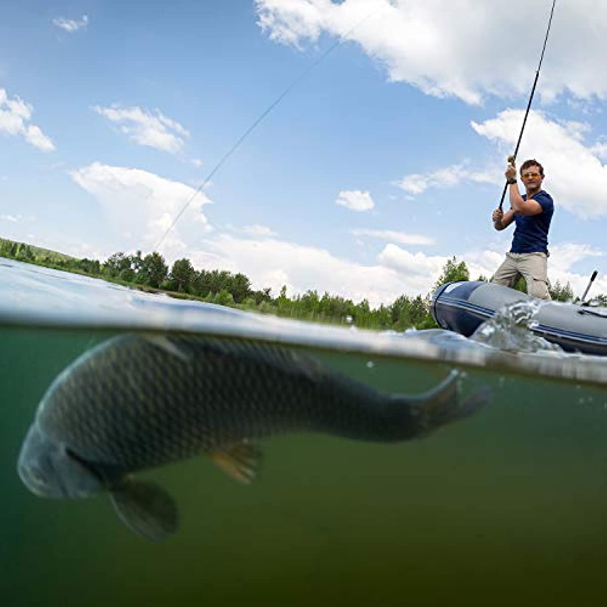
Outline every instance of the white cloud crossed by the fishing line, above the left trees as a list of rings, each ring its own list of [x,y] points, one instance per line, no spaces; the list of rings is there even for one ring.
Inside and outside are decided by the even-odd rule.
[[[203,192],[160,177],[141,169],[109,166],[95,162],[70,172],[72,179],[92,194],[115,225],[117,234],[137,232],[143,224],[141,248],[152,248],[186,203],[190,202],[182,224],[201,223],[205,233],[211,232],[206,216],[200,208],[211,202]],[[177,229],[167,237],[163,250],[185,250]]]

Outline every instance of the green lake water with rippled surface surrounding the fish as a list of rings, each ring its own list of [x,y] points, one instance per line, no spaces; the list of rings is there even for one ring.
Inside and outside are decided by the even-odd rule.
[[[607,367],[495,350],[444,331],[377,334],[251,316],[0,260],[3,605],[568,605],[600,599],[607,562]],[[487,409],[420,441],[263,441],[242,486],[204,456],[143,475],[181,528],[148,543],[107,496],[45,500],[16,458],[39,399],[127,328],[245,335],[303,348],[389,392],[450,368]]]

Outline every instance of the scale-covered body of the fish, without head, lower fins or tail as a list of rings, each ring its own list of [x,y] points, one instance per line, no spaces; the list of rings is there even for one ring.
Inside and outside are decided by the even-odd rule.
[[[286,348],[171,344],[189,359],[134,336],[90,351],[50,393],[41,426],[66,443],[75,437],[80,455],[134,469],[285,430],[389,434],[385,395]]]

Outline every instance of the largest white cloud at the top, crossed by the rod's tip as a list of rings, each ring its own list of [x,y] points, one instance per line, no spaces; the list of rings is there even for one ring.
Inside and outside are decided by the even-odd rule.
[[[392,0],[371,13],[368,0],[255,0],[258,24],[276,42],[301,49],[323,33],[347,39],[379,61],[390,81],[436,97],[481,103],[486,95],[525,95],[537,69],[549,2]],[[365,20],[365,17],[370,18]],[[607,97],[607,2],[557,3],[539,94]],[[513,44],[513,32],[515,43]],[[583,44],[580,44],[583,41]]]

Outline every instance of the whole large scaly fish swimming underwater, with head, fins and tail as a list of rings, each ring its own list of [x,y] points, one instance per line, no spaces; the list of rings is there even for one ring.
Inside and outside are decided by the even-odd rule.
[[[418,396],[388,395],[299,351],[194,335],[114,337],[83,354],[42,398],[18,471],[37,495],[109,492],[121,520],[151,540],[174,533],[166,490],[132,472],[209,453],[243,483],[256,475],[251,439],[324,432],[393,442],[475,412],[458,373]]]

